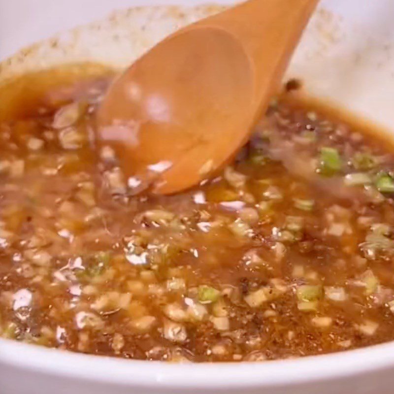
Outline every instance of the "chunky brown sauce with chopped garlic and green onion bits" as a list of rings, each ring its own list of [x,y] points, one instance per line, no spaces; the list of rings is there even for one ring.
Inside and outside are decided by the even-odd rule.
[[[0,88],[2,337],[163,361],[394,339],[386,136],[291,93],[217,178],[137,194],[95,145],[110,75],[73,66]]]

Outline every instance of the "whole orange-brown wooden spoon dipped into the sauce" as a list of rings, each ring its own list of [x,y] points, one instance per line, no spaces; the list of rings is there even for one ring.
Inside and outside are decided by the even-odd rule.
[[[118,77],[98,139],[135,186],[187,189],[247,142],[318,0],[250,0],[165,38]]]

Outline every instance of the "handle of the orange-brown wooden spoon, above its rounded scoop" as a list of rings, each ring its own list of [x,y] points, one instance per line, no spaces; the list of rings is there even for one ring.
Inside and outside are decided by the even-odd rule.
[[[249,0],[197,25],[223,29],[241,42],[254,69],[255,103],[262,106],[280,83],[318,1]]]

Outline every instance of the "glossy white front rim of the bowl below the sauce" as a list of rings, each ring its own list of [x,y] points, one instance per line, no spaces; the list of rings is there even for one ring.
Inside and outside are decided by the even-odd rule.
[[[1,365],[57,378],[126,387],[283,387],[392,368],[394,342],[298,359],[179,364],[73,353],[0,339]]]

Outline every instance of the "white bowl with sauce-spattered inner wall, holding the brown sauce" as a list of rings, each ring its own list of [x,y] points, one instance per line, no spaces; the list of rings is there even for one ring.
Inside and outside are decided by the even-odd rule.
[[[176,27],[217,10],[117,12],[112,18],[62,33],[5,61],[21,47],[104,18],[115,8],[170,2],[0,0],[0,84],[21,72],[70,61],[126,66]],[[202,1],[183,3],[190,6]],[[287,77],[301,78],[313,95],[394,131],[393,15],[393,0],[322,1]],[[0,340],[1,394],[391,394],[393,386],[394,343],[298,360],[168,364],[73,354]]]

